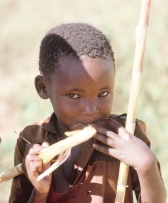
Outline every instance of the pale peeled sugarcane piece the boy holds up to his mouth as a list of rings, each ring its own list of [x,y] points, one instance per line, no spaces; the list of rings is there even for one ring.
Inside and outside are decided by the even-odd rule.
[[[83,130],[77,131],[77,133],[75,133],[71,137],[61,140],[41,150],[39,157],[42,159],[43,164],[46,164],[50,162],[56,155],[89,140],[95,134],[95,128],[91,126],[85,127]]]

